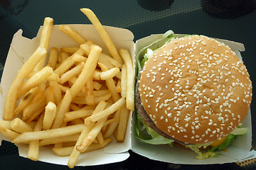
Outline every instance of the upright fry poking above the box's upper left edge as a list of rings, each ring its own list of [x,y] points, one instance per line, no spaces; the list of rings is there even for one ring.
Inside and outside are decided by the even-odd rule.
[[[42,47],[48,50],[49,43],[50,43],[50,35],[53,30],[53,18],[46,17],[43,21],[43,30],[41,33],[41,38],[39,42],[39,47]],[[38,64],[35,67],[35,71],[39,71],[43,68],[44,64],[46,62],[46,54],[43,56],[43,58],[38,62]]]

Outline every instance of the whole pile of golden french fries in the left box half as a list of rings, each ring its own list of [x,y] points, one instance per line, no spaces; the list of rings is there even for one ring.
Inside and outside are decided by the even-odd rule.
[[[45,18],[40,45],[11,84],[0,121],[1,134],[28,144],[29,159],[38,160],[39,147],[50,145],[55,154],[70,156],[70,168],[82,152],[123,142],[134,111],[134,64],[128,50],[118,52],[95,13],[81,11],[111,55],[67,25],[59,30],[78,46],[48,51],[53,19]]]

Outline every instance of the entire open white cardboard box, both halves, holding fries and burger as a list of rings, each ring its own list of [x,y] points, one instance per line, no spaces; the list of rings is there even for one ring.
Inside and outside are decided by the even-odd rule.
[[[78,31],[78,33],[80,33],[80,35],[82,35],[86,40],[92,40],[95,42],[95,44],[100,45],[103,52],[109,53],[107,51],[107,47],[100,38],[100,35],[98,35],[94,26],[84,24],[75,24],[69,26]],[[9,90],[9,86],[11,86],[11,83],[14,80],[18,69],[21,68],[23,62],[28,60],[28,57],[30,57],[31,54],[33,54],[33,52],[36,50],[36,47],[38,47],[42,30],[41,28],[38,31],[36,38],[33,38],[32,40],[23,37],[22,30],[18,30],[18,32],[14,34],[9,53],[6,58],[4,72],[1,77],[2,93],[0,96],[0,120],[2,120],[4,103],[6,100],[7,92]],[[132,55],[133,62],[134,57],[136,56],[137,52],[139,52],[139,50],[141,50],[143,47],[146,47],[151,42],[161,39],[162,36],[160,34],[151,35],[149,37],[137,40],[137,42],[134,43],[134,35],[129,30],[109,26],[105,26],[105,30],[110,35],[110,38],[112,38],[112,41],[114,42],[114,45],[116,45],[117,49],[125,48],[129,50],[130,54]],[[174,36],[181,37],[183,35]],[[242,44],[228,40],[220,41],[224,42],[226,45],[229,45],[230,48],[235,51],[238,57],[240,57],[242,60],[240,51],[245,50]],[[60,48],[72,46],[78,46],[78,44],[71,40],[68,35],[65,35],[60,30],[58,30],[57,25],[53,26],[49,49],[50,47]],[[250,111],[248,112],[245,120],[242,121],[243,126],[248,128],[247,134],[243,135],[242,137],[238,137],[232,143],[232,145],[227,148],[228,152],[220,152],[220,155],[210,159],[204,159],[203,161],[196,159],[196,153],[190,149],[184,149],[176,146],[169,147],[167,145],[148,145],[137,140],[137,138],[134,137],[134,128],[132,128],[134,126],[132,117],[136,118],[136,115],[132,115],[132,113],[130,114],[124,142],[110,142],[110,144],[107,145],[107,147],[104,149],[80,154],[77,166],[91,166],[122,162],[125,159],[128,159],[129,149],[131,149],[133,152],[136,152],[137,154],[141,154],[144,157],[148,157],[149,159],[175,164],[223,164],[228,162],[244,161],[246,159],[252,159],[256,157],[256,152],[254,150],[250,151],[252,141]],[[1,134],[0,140],[11,141]],[[28,145],[18,144],[18,152],[21,157],[27,157]],[[41,162],[67,165],[68,159],[69,157],[58,157],[48,147],[40,147],[38,160]]]

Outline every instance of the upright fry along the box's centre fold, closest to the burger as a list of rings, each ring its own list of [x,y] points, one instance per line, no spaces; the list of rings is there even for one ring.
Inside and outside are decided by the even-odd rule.
[[[129,79],[129,81],[127,81],[127,92],[126,92],[127,108],[130,111],[134,111],[134,67],[132,63],[132,58],[129,55],[128,50],[120,49],[119,52],[122,59],[124,60],[124,64],[127,67],[127,79]]]

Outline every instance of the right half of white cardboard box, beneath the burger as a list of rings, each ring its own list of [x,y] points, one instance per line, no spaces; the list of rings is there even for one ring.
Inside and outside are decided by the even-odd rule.
[[[137,40],[135,45],[136,54],[142,50],[142,48],[147,47],[151,42],[156,42],[161,40],[163,35],[156,34],[150,35],[146,38]],[[184,34],[174,34],[175,38],[181,38]],[[229,40],[221,40],[215,38],[216,40],[228,45],[231,50],[233,50],[236,55],[242,60],[240,52],[245,51],[243,44],[239,42],[233,42]],[[136,115],[133,115],[136,119]],[[141,142],[132,135],[132,150],[137,154],[141,154],[149,159],[158,160],[161,162],[169,162],[175,164],[224,164],[230,162],[239,162],[247,159],[252,159],[256,157],[256,152],[252,149],[252,123],[250,109],[242,121],[242,126],[248,128],[246,135],[237,137],[234,142],[231,143],[226,149],[228,152],[218,152],[220,155],[216,155],[210,159],[199,160],[196,159],[197,154],[191,149],[186,149],[183,147],[169,147],[168,145],[149,145]],[[134,125],[133,125],[134,127]],[[135,134],[135,132],[133,132]]]

